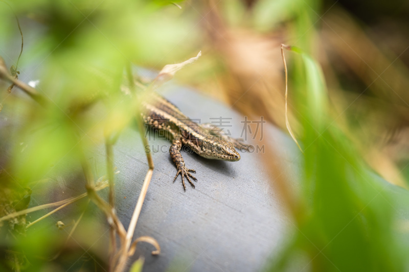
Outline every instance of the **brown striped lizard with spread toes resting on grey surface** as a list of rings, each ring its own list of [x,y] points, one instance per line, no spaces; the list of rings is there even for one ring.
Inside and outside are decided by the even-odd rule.
[[[199,125],[156,92],[150,92],[149,98],[142,102],[141,116],[145,126],[153,130],[165,131],[167,138],[172,141],[169,153],[177,168],[173,182],[180,175],[185,191],[185,177],[192,187],[195,185],[191,178],[195,181],[197,179],[191,174],[191,172],[195,173],[196,171],[185,165],[180,153],[182,145],[188,145],[193,152],[201,157],[224,161],[240,160],[240,154],[236,149],[248,150],[249,147],[241,139],[222,135],[221,130],[211,124]]]

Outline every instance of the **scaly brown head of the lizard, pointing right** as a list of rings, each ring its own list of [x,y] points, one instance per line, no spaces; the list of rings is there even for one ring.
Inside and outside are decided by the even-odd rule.
[[[223,161],[238,161],[240,154],[234,144],[215,137],[208,137],[200,145],[200,156]]]

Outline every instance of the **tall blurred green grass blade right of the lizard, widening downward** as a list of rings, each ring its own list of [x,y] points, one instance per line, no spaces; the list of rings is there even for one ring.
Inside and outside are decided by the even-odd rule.
[[[309,8],[292,13],[294,36],[300,38],[299,47],[291,49],[298,54],[291,56],[289,81],[302,121],[305,176],[300,211],[294,214],[296,235],[269,270],[285,271],[301,259],[302,270],[405,271],[409,247],[396,234],[389,185],[370,174],[354,143],[339,128],[338,116],[329,114],[323,72],[310,57],[319,46],[311,31],[317,14],[311,11],[319,10],[321,3],[303,2]]]

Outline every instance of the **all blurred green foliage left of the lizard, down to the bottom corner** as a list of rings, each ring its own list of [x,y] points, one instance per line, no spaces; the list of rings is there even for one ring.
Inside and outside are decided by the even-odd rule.
[[[35,75],[25,81],[39,80],[36,89],[47,100],[39,107],[16,87],[12,94],[1,94],[2,113],[13,116],[4,131],[7,141],[1,144],[7,151],[0,172],[2,217],[28,208],[24,197],[30,200],[31,191],[26,188],[50,190],[50,177],[74,172],[106,136],[129,125],[135,112],[120,88],[127,67],[133,63],[158,69],[196,48],[187,42],[195,35],[189,32],[191,22],[175,20],[181,11],[169,1],[19,1],[10,3],[13,10],[0,5],[0,36],[4,44],[15,43],[16,15],[26,42],[19,68],[34,65],[22,75]],[[8,52],[0,55],[8,66],[15,65]],[[89,107],[92,112],[86,111]],[[82,210],[76,207],[67,214],[79,220]],[[100,266],[107,265],[104,246],[85,251],[104,233],[95,213],[100,216],[95,207],[88,208],[81,231],[69,243],[63,237],[73,224],[58,231],[55,222],[45,218],[26,231],[25,215],[0,222],[0,270],[106,269]]]

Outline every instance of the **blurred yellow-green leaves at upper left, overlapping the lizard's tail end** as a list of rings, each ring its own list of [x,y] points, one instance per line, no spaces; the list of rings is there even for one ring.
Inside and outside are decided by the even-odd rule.
[[[120,84],[126,65],[132,62],[159,66],[191,49],[187,44],[179,44],[189,23],[174,20],[179,9],[165,6],[166,3],[169,4],[110,0],[14,3],[16,14],[27,14],[46,26],[32,47],[37,54],[49,52],[43,54],[35,69],[41,67],[36,89],[51,102],[42,109],[14,101],[17,105],[24,103],[14,107],[19,107],[22,115],[30,116],[16,132],[18,142],[27,148],[22,152],[22,146],[16,145],[11,163],[12,176],[21,184],[41,179],[50,165],[77,158],[79,139],[86,141],[85,146],[97,144],[103,140],[102,134],[98,134],[101,130],[129,119],[129,114],[120,107],[123,105]],[[1,11],[5,15],[11,13],[7,9]],[[4,18],[8,20],[5,24],[16,24],[13,16]],[[12,33],[5,29],[2,36],[7,39],[8,35]],[[176,46],[178,50],[172,50]],[[172,54],[160,57],[164,52]],[[23,65],[38,57],[30,53],[25,52]],[[81,103],[86,106],[101,96],[107,107],[100,108],[99,116],[78,111]],[[47,129],[31,133],[42,127]]]

